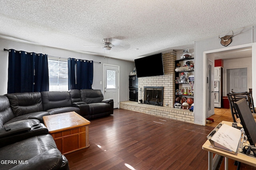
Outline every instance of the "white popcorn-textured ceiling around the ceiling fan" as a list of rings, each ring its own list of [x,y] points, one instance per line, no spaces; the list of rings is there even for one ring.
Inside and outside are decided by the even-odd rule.
[[[256,24],[255,0],[0,2],[2,38],[129,61]],[[104,38],[113,39],[110,53]]]

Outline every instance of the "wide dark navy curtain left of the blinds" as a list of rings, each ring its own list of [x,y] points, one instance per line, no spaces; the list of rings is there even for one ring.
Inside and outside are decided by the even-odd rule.
[[[9,50],[7,93],[49,91],[47,55]]]

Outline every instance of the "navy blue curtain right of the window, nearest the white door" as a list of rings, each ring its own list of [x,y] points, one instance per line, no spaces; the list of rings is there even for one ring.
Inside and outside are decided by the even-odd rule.
[[[93,61],[68,59],[68,89],[92,89]]]

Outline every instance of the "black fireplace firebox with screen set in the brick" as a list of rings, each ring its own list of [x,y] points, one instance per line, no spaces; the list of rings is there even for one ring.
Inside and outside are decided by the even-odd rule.
[[[144,104],[163,106],[164,87],[144,86]]]

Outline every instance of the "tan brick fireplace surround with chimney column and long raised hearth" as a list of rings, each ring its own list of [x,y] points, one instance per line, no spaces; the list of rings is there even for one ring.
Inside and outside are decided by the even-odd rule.
[[[140,104],[140,102],[120,102],[120,108],[157,115],[179,121],[194,123],[194,113],[189,110],[175,109],[175,60],[176,51],[162,53],[164,63],[164,75],[138,78],[138,100],[144,103],[144,87],[162,87],[162,106]]]

